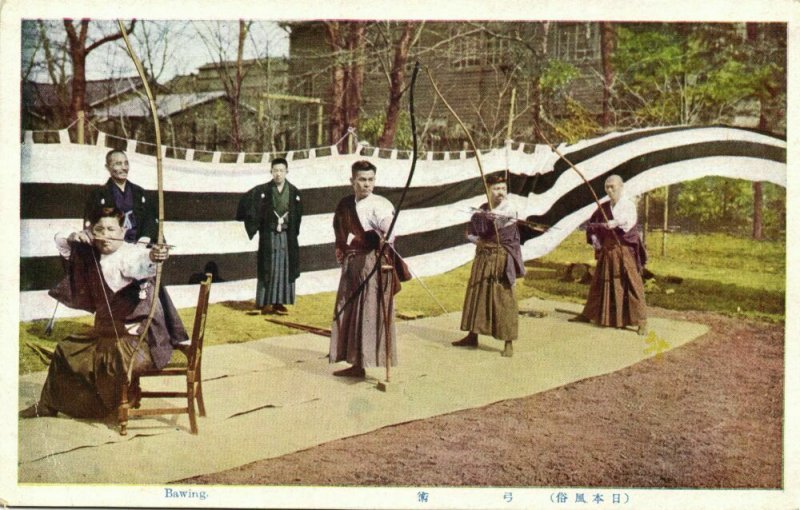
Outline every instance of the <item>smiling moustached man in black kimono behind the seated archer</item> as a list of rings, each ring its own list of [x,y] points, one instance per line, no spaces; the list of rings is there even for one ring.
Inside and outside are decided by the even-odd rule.
[[[128,180],[128,156],[124,151],[111,150],[106,154],[106,170],[110,174],[103,186],[93,189],[83,210],[83,226],[97,211],[116,207],[125,214],[125,241],[155,242],[158,237],[156,202],[141,186]]]

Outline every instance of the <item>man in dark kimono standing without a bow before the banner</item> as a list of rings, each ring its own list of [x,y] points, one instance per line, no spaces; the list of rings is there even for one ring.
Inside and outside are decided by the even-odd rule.
[[[294,282],[300,276],[300,192],[286,180],[284,158],[271,162],[272,180],[249,190],[239,200],[236,220],[244,222],[250,239],[258,233],[256,308],[261,313],[288,313],[294,304]]]

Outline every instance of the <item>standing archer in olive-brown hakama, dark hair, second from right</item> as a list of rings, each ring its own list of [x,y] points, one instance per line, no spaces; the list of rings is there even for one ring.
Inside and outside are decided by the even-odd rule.
[[[503,174],[490,175],[488,203],[472,215],[467,238],[476,244],[475,260],[464,298],[461,330],[467,336],[453,342],[456,347],[477,347],[478,335],[491,335],[505,342],[505,357],[514,354],[518,314],[514,296],[516,279],[525,274],[520,249],[517,211],[508,200]]]

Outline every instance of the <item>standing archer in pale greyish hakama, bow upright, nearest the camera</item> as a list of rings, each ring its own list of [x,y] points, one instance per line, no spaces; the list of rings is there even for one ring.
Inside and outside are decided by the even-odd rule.
[[[394,264],[401,267],[404,280],[408,270],[403,270],[404,264],[395,257],[393,239],[386,239],[394,207],[372,192],[375,173],[375,165],[369,161],[353,163],[350,183],[354,194],[344,197],[333,215],[336,260],[342,265],[342,275],[331,328],[330,362],[352,365],[334,372],[336,376],[360,378],[365,376],[364,367],[386,366],[387,341],[390,363],[397,364],[392,319],[400,279]],[[390,244],[384,249],[384,243]]]

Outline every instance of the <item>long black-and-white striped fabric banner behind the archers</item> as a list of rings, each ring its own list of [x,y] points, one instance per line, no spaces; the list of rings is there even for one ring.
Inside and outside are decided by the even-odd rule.
[[[101,137],[102,139],[103,137]],[[24,137],[21,183],[21,320],[49,317],[55,302],[47,289],[63,275],[53,236],[81,228],[83,205],[91,188],[108,178],[109,150],[71,143],[36,144]],[[129,143],[129,147],[133,142]],[[559,148],[580,168],[599,196],[608,175],[619,174],[626,191],[641,194],[681,181],[718,175],[786,185],[786,142],[746,129],[665,127],[613,133]],[[303,274],[298,294],[335,290],[339,269],[333,250],[333,210],[352,192],[350,165],[369,159],[377,167],[376,193],[394,203],[402,193],[410,160],[383,159],[377,151],[291,159],[288,179],[300,188],[305,216],[300,229]],[[296,156],[297,152],[290,155]],[[129,152],[129,178],[146,189],[156,187],[155,158]],[[213,158],[218,161],[219,158]],[[179,307],[193,306],[193,273],[213,261],[225,282],[215,286],[215,301],[253,299],[257,239],[249,240],[234,221],[239,197],[269,178],[268,163],[197,162],[164,159],[164,235],[176,246],[164,268],[164,280]],[[266,161],[266,159],[265,159]],[[546,146],[507,145],[486,151],[487,172],[510,172],[511,199],[529,220],[552,225],[527,240],[526,259],[540,257],[585,221],[595,205],[580,177]],[[155,193],[153,194],[155,197]],[[472,258],[464,232],[469,207],[485,202],[474,156],[427,155],[417,163],[412,188],[396,226],[397,251],[420,275],[439,274]],[[80,312],[59,307],[60,316]]]

